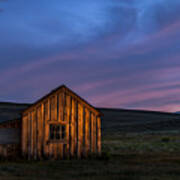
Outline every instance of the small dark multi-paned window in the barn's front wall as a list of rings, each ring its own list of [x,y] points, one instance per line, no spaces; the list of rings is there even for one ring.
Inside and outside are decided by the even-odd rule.
[[[60,124],[50,124],[50,140],[64,140],[66,135],[66,127]]]

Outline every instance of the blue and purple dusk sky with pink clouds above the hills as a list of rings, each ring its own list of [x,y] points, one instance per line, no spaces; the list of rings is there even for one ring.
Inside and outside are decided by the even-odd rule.
[[[180,111],[180,1],[0,1],[0,101],[61,84],[96,107]]]

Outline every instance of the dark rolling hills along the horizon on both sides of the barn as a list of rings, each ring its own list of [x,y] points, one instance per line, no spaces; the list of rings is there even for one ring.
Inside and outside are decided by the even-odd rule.
[[[30,104],[0,102],[0,122],[21,117]],[[109,133],[180,131],[180,114],[143,110],[97,108],[102,117],[102,131]]]

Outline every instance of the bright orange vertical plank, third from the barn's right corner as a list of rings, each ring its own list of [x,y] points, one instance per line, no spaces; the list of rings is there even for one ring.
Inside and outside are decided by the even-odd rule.
[[[89,155],[90,152],[90,111],[85,108],[85,156]]]

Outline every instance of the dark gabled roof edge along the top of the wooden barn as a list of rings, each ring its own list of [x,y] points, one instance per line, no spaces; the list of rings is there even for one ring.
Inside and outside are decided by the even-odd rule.
[[[67,92],[69,92],[70,94],[74,95],[77,99],[83,101],[86,105],[88,105],[90,108],[92,108],[94,111],[96,111],[100,116],[103,115],[98,109],[96,109],[94,106],[92,106],[91,104],[89,104],[86,100],[84,100],[82,97],[80,97],[78,94],[76,94],[75,92],[73,92],[70,88],[68,88],[67,86],[60,85],[59,87],[53,89],[52,91],[50,91],[48,94],[46,94],[45,96],[43,96],[42,98],[38,99],[35,103],[31,104],[29,107],[27,107],[23,113],[26,113],[27,110],[29,110],[30,108],[34,107],[35,105],[37,105],[38,103],[40,103],[41,101],[45,100],[46,98],[48,98],[49,96],[51,96],[53,93],[56,93],[58,91],[60,91],[61,89],[65,89]]]

